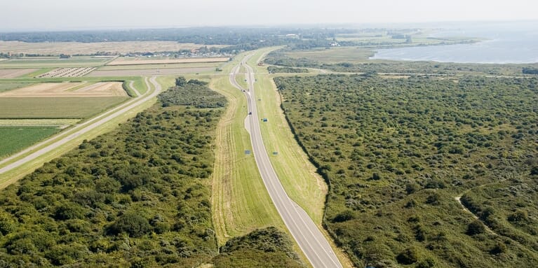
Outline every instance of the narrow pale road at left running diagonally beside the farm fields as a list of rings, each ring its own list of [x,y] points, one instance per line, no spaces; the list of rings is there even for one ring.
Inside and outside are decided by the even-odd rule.
[[[49,146],[46,146],[46,147],[41,148],[39,150],[36,150],[34,153],[32,153],[30,155],[27,155],[26,157],[23,157],[20,160],[17,160],[15,162],[11,163],[11,164],[6,165],[6,167],[2,167],[0,169],[0,174],[6,173],[7,171],[10,171],[11,169],[15,169],[17,167],[20,167],[23,164],[26,164],[27,162],[30,162],[30,161],[34,160],[36,157],[40,157],[41,155],[44,155],[44,154],[46,154],[48,152],[51,152],[55,148],[58,148],[58,146],[62,146],[63,144],[65,144],[65,143],[67,143],[69,141],[72,141],[76,137],[80,136],[81,134],[85,134],[86,132],[89,132],[90,130],[95,129],[96,127],[99,127],[100,125],[105,124],[109,120],[112,120],[112,119],[118,117],[119,115],[128,112],[130,109],[135,108],[136,106],[139,106],[140,104],[144,103],[145,101],[148,101],[149,99],[152,99],[152,98],[156,97],[162,90],[161,85],[159,83],[157,83],[156,76],[153,76],[151,79],[149,79],[149,81],[155,87],[154,92],[152,92],[151,94],[143,95],[142,97],[140,97],[138,99],[130,101],[127,104],[123,104],[120,107],[116,107],[116,108],[112,109],[112,111],[109,111],[107,113],[103,113],[102,115],[99,115],[99,116],[93,118],[92,120],[89,120],[89,121],[83,123],[82,125],[86,125],[83,128],[81,128],[79,130],[76,130],[75,132],[73,132],[71,134],[68,134],[68,136],[65,136],[64,138],[60,139],[59,141],[56,141],[55,143],[52,143]],[[148,83],[147,79],[146,79],[146,85],[147,85],[147,88],[148,88],[147,92],[151,92],[151,90],[149,90],[149,83]],[[37,144],[36,146],[32,146],[31,148],[28,148],[27,150],[24,150],[21,153],[18,153],[17,155],[13,155],[13,157],[17,157],[18,155],[21,155],[22,153],[27,153],[30,150],[33,150],[33,149],[43,145],[44,143],[48,143],[51,140],[56,139],[56,138],[57,137],[53,137],[51,139],[43,141],[43,142]],[[13,159],[13,157],[10,157],[9,159]],[[2,160],[2,162],[6,162],[9,159]],[[0,164],[2,162],[0,162]]]

